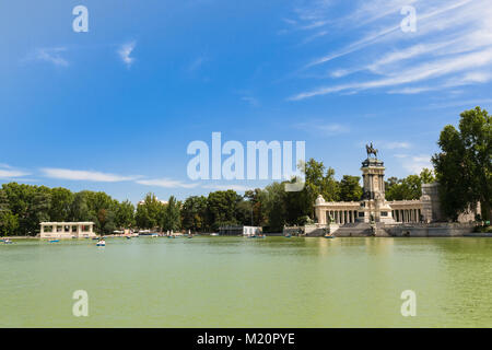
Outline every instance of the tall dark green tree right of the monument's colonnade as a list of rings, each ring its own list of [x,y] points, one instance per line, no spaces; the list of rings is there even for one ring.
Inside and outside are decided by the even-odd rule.
[[[456,220],[460,212],[480,201],[482,217],[490,220],[492,198],[491,116],[476,107],[460,115],[459,126],[441,131],[441,152],[432,162],[440,183],[442,208]]]

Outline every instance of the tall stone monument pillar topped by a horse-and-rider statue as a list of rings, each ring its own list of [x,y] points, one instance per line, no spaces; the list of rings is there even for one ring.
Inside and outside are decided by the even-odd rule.
[[[377,150],[373,144],[366,145],[367,159],[362,162],[363,196],[359,220],[364,222],[394,222],[391,207],[385,199],[385,166],[377,159]],[[371,155],[374,154],[374,158]]]

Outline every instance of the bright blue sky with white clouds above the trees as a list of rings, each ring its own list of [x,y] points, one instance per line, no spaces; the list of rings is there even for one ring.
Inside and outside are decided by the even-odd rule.
[[[305,141],[337,177],[372,141],[403,177],[460,112],[490,110],[491,18],[488,0],[1,1],[0,183],[132,201],[269,183],[189,179],[213,131]]]

